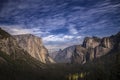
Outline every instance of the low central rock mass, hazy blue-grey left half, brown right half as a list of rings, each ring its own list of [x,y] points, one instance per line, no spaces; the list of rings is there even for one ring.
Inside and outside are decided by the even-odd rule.
[[[85,63],[86,49],[81,45],[74,45],[60,50],[55,57],[58,63]]]

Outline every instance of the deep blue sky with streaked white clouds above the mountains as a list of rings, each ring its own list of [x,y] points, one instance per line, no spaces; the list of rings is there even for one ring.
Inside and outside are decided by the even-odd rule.
[[[34,34],[49,49],[120,31],[120,0],[0,0],[0,27]]]

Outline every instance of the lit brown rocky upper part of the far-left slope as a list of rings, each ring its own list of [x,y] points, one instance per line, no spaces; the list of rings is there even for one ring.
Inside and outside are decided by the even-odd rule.
[[[27,54],[18,44],[17,41],[0,28],[0,51],[12,56],[14,59]]]

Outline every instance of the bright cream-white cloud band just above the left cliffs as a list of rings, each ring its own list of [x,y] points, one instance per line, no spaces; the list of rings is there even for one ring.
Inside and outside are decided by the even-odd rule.
[[[20,34],[35,34],[40,36],[42,35],[43,32],[40,31],[39,28],[24,28],[22,25],[1,25],[0,26],[2,29],[10,33],[11,35],[20,35]],[[45,34],[45,33],[44,33]]]

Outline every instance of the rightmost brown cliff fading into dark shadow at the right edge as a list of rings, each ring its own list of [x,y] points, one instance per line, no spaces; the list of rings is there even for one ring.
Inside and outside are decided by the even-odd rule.
[[[112,50],[120,50],[119,44],[120,44],[120,33],[110,37],[104,37],[101,40],[100,45],[95,48],[95,57],[97,58],[102,55],[106,55]]]

